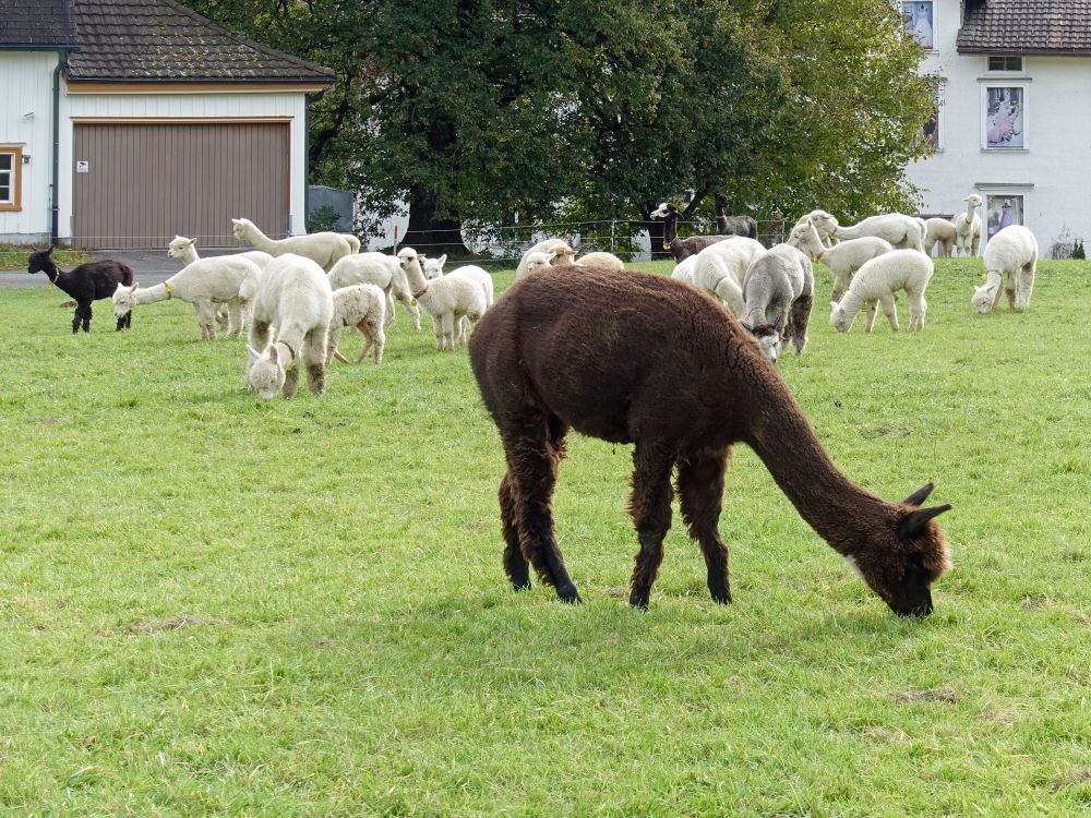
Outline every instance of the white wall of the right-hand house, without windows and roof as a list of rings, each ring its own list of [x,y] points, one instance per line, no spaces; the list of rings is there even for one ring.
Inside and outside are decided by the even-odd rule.
[[[991,72],[986,56],[956,51],[959,15],[958,0],[936,0],[936,50],[921,69],[944,79],[940,149],[907,169],[924,189],[922,212],[957,214],[971,192],[1010,193],[1023,196],[1023,224],[1043,255],[1065,230],[1091,238],[1091,58],[1027,56],[1022,71]],[[1024,89],[1026,148],[983,147],[986,85]]]

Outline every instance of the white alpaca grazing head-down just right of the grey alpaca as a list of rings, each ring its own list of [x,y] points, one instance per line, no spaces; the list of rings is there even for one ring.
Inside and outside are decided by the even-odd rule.
[[[928,303],[924,300],[924,291],[928,287],[934,266],[932,258],[919,250],[894,250],[872,258],[864,264],[849,285],[849,291],[840,303],[830,302],[829,323],[839,333],[852,328],[860,309],[871,301],[878,300],[883,304],[890,328],[898,332],[898,310],[894,293],[906,290],[909,300],[909,332],[924,329],[924,314]],[[866,327],[871,332],[871,327]]]

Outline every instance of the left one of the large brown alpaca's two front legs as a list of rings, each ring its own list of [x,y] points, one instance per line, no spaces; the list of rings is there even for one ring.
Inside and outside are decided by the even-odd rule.
[[[633,466],[628,513],[636,522],[640,551],[633,568],[628,603],[647,609],[651,585],[663,562],[663,538],[671,527],[671,468],[674,460],[667,449],[650,443],[637,443]]]

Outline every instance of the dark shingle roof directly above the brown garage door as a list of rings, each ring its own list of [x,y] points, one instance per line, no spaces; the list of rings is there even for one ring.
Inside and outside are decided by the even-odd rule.
[[[69,58],[69,80],[321,83],[334,80],[329,69],[226,32],[175,0],[70,2],[79,50]]]

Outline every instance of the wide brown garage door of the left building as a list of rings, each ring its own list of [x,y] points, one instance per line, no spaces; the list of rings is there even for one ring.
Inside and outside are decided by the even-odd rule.
[[[231,219],[288,227],[287,122],[76,123],[77,246],[165,248],[178,236],[235,244]]]

